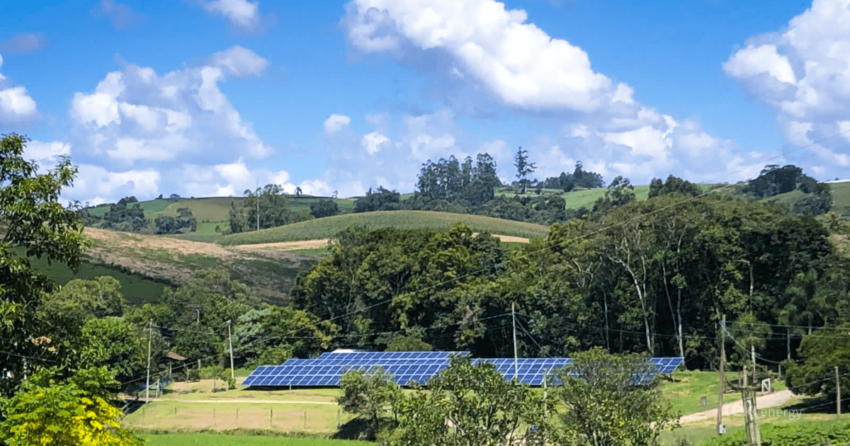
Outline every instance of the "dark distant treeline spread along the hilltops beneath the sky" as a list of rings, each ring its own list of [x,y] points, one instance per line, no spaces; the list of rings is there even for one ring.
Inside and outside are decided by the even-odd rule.
[[[573,172],[561,172],[557,177],[543,181],[528,179],[534,164],[527,162],[526,153],[526,150],[519,150],[516,166],[517,178],[520,179],[509,185],[503,184],[498,178],[496,161],[486,153],[476,155],[474,161],[469,156],[463,161],[450,156],[448,159],[423,163],[416,178],[416,191],[406,199],[402,199],[395,190],[378,186],[376,190],[369,189],[364,197],[355,200],[352,212],[455,212],[550,225],[586,215],[598,219],[635,200],[634,186],[629,179],[617,177],[608,184],[604,196],[590,208],[582,206],[579,209],[568,209],[564,193],[602,188],[605,185],[602,175],[586,171],[579,161],[575,163]],[[506,187],[514,193],[497,193],[497,189]],[[800,167],[791,165],[770,165],[757,178],[722,187],[724,195],[745,200],[771,200],[776,195],[799,191],[798,195],[780,200],[789,212],[797,215],[824,214],[830,211],[832,205],[828,184],[818,183],[804,174]],[[524,193],[527,188],[530,191],[528,194]],[[553,193],[553,189],[559,192]],[[703,194],[704,190],[697,184],[672,175],[665,181],[654,178],[649,184],[649,197],[671,193],[695,197]],[[246,190],[244,197],[238,203],[231,201],[229,227],[220,229],[221,232],[233,234],[269,229],[312,218],[331,217],[340,212],[337,201],[330,198],[310,203],[309,209],[292,211],[290,195],[276,184],[268,184],[256,191]],[[170,200],[179,200],[179,196],[171,195]],[[100,224],[103,228],[123,231],[175,234],[195,230],[195,217],[189,208],[179,209],[178,217],[161,216],[147,220],[144,210],[136,201],[135,197],[124,198],[110,205],[110,211],[104,217],[95,217],[83,209],[81,217],[87,225]]]

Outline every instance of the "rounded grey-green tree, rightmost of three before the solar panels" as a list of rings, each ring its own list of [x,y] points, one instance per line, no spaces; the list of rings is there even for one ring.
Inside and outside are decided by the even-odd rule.
[[[614,355],[602,348],[575,353],[551,387],[566,406],[560,415],[564,444],[657,445],[662,430],[678,418],[657,392],[657,369],[645,357]],[[643,381],[646,374],[654,376]],[[573,443],[575,441],[575,443]]]

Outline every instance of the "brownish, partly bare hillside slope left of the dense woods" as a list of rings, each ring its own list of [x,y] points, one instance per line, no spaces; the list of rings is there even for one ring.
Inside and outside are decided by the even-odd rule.
[[[158,235],[86,228],[94,239],[88,261],[146,278],[181,285],[203,268],[225,268],[231,277],[252,287],[266,302],[289,301],[295,276],[312,267],[316,257],[263,248],[231,249],[212,243]],[[151,280],[152,281],[152,280]],[[138,297],[128,300],[139,301]]]

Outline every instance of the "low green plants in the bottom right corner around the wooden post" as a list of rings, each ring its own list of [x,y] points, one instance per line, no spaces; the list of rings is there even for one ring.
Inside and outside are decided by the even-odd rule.
[[[763,446],[841,446],[850,443],[850,423],[760,426]],[[709,440],[707,446],[742,446],[745,432],[735,432]]]

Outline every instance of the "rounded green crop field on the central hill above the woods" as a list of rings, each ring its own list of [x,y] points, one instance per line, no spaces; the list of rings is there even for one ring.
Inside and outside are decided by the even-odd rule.
[[[439,230],[449,229],[457,222],[466,223],[476,232],[515,235],[526,238],[545,237],[549,230],[541,224],[513,222],[479,215],[432,211],[382,211],[343,214],[287,224],[272,229],[231,234],[222,237],[220,243],[223,245],[250,245],[277,241],[328,239],[339,231],[356,225],[367,225],[371,229],[394,227],[399,229]]]

